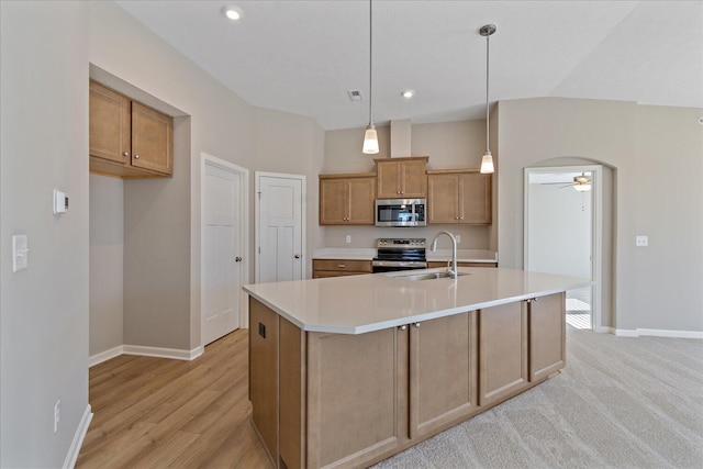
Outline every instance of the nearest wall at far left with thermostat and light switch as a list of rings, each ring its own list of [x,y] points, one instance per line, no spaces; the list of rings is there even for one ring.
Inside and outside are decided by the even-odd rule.
[[[0,16],[0,466],[56,468],[89,411],[88,13],[2,1]],[[13,234],[30,247],[16,273]]]

